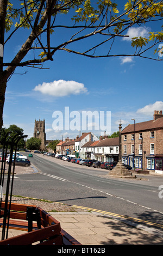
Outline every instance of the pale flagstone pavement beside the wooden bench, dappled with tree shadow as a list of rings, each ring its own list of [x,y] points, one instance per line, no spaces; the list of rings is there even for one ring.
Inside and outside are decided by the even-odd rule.
[[[26,172],[28,172],[27,169]],[[37,206],[46,210],[43,205]],[[139,220],[134,222],[134,219],[128,220],[124,216],[89,208],[79,209],[78,206],[76,208],[77,210],[74,212],[67,210],[65,212],[47,212],[60,222],[62,229],[83,246],[163,245],[162,227],[155,229],[150,222],[148,225],[146,222],[139,224]],[[9,229],[8,238],[23,233],[26,231]]]

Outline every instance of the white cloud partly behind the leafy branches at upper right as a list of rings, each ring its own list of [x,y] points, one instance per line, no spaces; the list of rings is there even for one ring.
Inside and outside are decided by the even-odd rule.
[[[148,27],[137,27],[137,28],[131,27],[127,31],[127,35],[129,35],[129,37],[126,36],[122,40],[131,41],[132,38],[137,36],[146,37],[148,36],[149,31],[150,31],[150,28]]]

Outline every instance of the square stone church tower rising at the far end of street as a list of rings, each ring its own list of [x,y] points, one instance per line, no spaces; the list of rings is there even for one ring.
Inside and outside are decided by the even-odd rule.
[[[39,119],[39,121],[37,121],[35,119],[35,128],[34,128],[34,138],[39,138],[41,139],[41,150],[45,150],[46,149],[46,133],[45,133],[45,119],[43,119],[43,121],[41,121]]]

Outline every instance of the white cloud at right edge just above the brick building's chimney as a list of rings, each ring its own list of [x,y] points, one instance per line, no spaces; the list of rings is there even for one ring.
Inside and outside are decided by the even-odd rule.
[[[153,104],[149,104],[143,108],[139,108],[136,113],[145,114],[145,115],[153,115],[155,110],[162,110],[162,109],[163,109],[163,102],[156,101]]]

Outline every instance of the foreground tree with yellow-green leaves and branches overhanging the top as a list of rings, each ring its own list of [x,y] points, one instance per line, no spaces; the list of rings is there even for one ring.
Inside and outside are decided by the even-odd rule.
[[[0,128],[7,81],[17,66],[42,68],[47,60],[53,61],[58,51],[90,58],[154,59],[147,52],[152,47],[154,52],[158,51],[163,39],[159,27],[163,19],[162,6],[163,1],[156,0],[0,0]],[[132,53],[117,52],[117,48],[112,47],[116,40],[128,36],[129,28],[152,22],[158,23],[158,31],[133,38]],[[8,41],[14,44],[13,35],[21,29],[26,29],[27,40],[13,59],[4,62]],[[62,33],[66,39],[65,36],[62,39]],[[77,44],[80,41],[82,44]],[[162,56],[162,48],[159,51]],[[28,59],[29,52],[33,52],[33,58]]]

